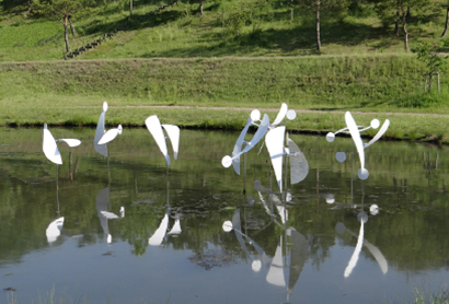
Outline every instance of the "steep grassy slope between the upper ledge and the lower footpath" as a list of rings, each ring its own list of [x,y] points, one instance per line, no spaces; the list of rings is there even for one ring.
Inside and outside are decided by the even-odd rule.
[[[0,98],[30,106],[120,105],[277,107],[449,113],[448,85],[426,94],[414,56],[129,59],[0,65]],[[61,100],[60,102],[57,100]]]

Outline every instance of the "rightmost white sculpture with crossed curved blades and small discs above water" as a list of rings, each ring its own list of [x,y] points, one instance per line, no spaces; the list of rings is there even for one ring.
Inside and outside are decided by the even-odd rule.
[[[358,171],[357,175],[360,179],[367,179],[369,176],[368,169],[365,167],[365,149],[373,144],[376,141],[378,141],[388,130],[390,127],[390,120],[385,119],[383,122],[382,127],[380,130],[377,132],[377,135],[367,143],[364,143],[361,141],[360,132],[368,130],[370,128],[377,129],[380,126],[379,119],[372,119],[371,124],[369,127],[359,127],[357,126],[356,121],[354,120],[353,116],[350,115],[349,112],[346,112],[345,114],[345,121],[346,121],[346,128],[341,129],[336,131],[335,133],[329,132],[326,135],[326,140],[329,142],[333,142],[335,140],[335,136],[337,133],[344,132],[344,133],[349,133],[350,137],[353,138],[353,141],[356,145],[358,156],[360,159],[360,169]],[[338,162],[344,162],[346,160],[346,153],[345,152],[337,152],[336,153],[336,159]]]

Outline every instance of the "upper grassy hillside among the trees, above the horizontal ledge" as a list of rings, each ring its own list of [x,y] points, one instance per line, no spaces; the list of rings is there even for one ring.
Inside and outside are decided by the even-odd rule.
[[[146,15],[165,2],[135,0],[133,17],[127,3],[106,3],[74,19],[78,35],[70,36],[72,49],[125,23],[130,25],[79,59],[318,54],[313,10],[297,5],[291,20],[290,1],[206,0],[203,15],[198,12],[198,1],[187,1]],[[425,11],[412,10],[407,25],[411,47],[439,40],[446,7],[444,1],[433,3]],[[395,36],[393,23],[385,25],[370,7],[353,5],[343,13],[323,11],[321,22],[322,55],[404,52],[403,34]],[[22,14],[3,12],[0,60],[61,59],[62,34],[60,24],[33,17],[27,10]]]

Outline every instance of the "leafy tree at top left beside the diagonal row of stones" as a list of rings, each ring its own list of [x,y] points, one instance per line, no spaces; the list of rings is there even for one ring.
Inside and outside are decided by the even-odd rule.
[[[35,0],[35,10],[37,14],[54,20],[64,25],[64,37],[66,42],[66,51],[70,51],[68,25],[74,36],[74,26],[72,16],[85,8],[93,5],[91,0]]]

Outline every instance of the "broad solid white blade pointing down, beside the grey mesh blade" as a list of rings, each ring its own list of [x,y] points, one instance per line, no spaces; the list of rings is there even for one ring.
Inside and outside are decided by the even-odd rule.
[[[284,155],[284,137],[286,127],[278,127],[268,131],[265,137],[265,144],[272,159],[273,169],[275,171],[277,185],[283,191],[283,155]]]

